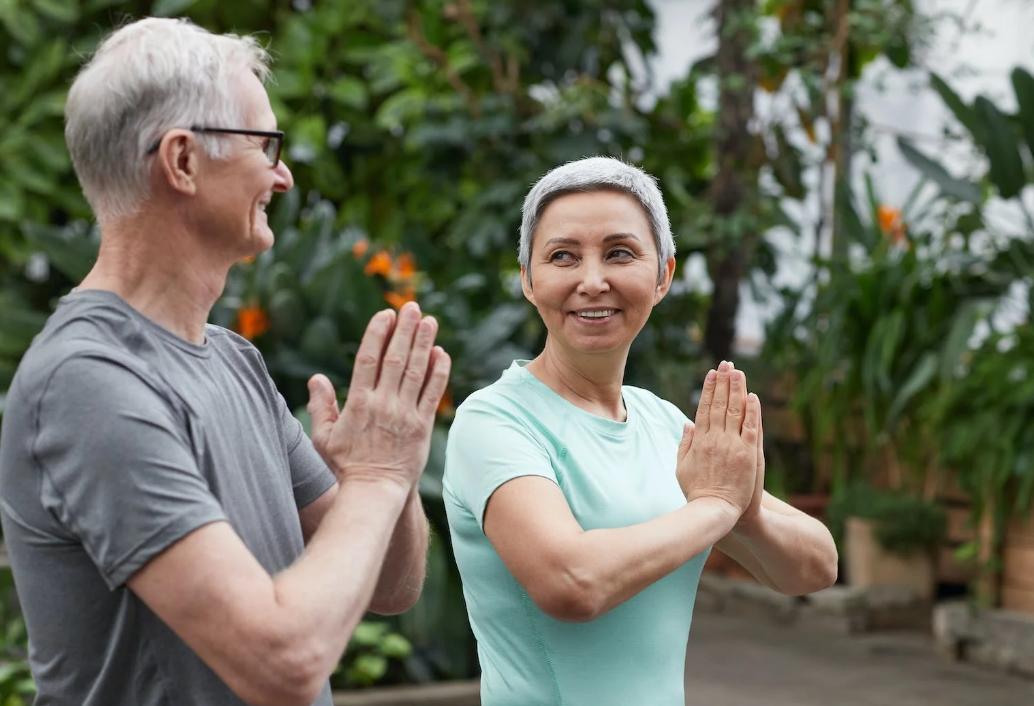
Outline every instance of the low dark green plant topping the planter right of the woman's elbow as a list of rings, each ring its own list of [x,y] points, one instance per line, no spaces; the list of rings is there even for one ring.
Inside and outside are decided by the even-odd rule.
[[[839,536],[843,536],[847,518],[872,520],[880,546],[902,556],[934,551],[947,532],[947,516],[939,505],[864,483],[853,484],[834,496],[827,517]]]

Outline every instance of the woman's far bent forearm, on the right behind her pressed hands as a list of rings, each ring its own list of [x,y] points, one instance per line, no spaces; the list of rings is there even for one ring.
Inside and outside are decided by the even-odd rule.
[[[758,519],[736,527],[719,545],[761,583],[789,595],[826,588],[837,580],[837,547],[818,520],[762,507]]]

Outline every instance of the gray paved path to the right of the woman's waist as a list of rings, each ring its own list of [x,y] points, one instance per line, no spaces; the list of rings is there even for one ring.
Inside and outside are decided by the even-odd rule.
[[[688,706],[1034,706],[1034,680],[948,662],[918,633],[838,635],[698,611]]]

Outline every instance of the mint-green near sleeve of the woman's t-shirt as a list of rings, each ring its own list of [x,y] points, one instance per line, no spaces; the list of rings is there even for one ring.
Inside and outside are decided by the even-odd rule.
[[[468,400],[449,431],[448,490],[484,530],[485,508],[492,493],[522,475],[557,483],[549,453],[519,417],[490,403]]]

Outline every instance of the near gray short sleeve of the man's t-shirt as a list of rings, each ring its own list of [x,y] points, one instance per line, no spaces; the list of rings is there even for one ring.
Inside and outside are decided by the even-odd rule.
[[[199,470],[185,416],[131,364],[68,359],[37,400],[40,499],[109,588],[192,530],[225,519]]]

